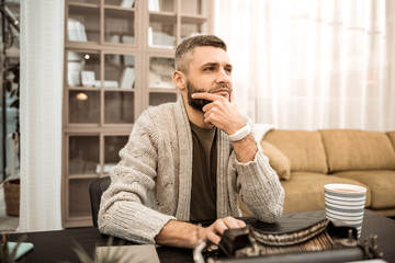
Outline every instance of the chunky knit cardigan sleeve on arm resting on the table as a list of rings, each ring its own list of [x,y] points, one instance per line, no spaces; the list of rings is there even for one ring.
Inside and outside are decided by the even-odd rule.
[[[155,243],[155,237],[173,216],[154,209],[148,194],[155,188],[157,148],[148,114],[135,123],[121,161],[110,171],[111,185],[99,210],[101,232],[138,243]]]

